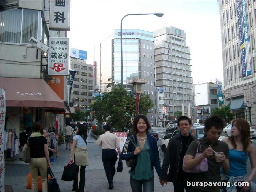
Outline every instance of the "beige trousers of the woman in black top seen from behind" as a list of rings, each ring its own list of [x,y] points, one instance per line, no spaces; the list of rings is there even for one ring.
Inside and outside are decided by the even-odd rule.
[[[31,158],[29,169],[32,177],[31,191],[38,191],[38,169],[41,175],[42,190],[48,191],[47,188],[47,160],[45,157]]]

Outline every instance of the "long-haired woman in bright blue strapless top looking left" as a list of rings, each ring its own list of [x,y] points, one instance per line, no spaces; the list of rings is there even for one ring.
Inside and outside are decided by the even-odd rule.
[[[222,139],[229,146],[230,151],[230,171],[224,173],[221,169],[221,180],[231,182],[233,191],[255,191],[255,184],[251,183],[256,173],[255,166],[255,147],[250,140],[250,125],[245,119],[235,119],[232,122],[231,136]],[[247,177],[247,159],[250,158],[251,173]],[[248,186],[234,186],[233,182],[248,182]],[[254,185],[254,189],[251,189]],[[224,191],[231,191],[232,187],[224,187]]]

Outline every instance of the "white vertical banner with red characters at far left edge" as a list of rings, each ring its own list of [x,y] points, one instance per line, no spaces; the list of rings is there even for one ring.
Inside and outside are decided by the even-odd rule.
[[[0,191],[4,191],[4,176],[5,176],[5,165],[4,165],[4,126],[5,126],[5,90],[1,89],[1,137],[0,137],[0,145],[1,145],[1,151],[0,151],[0,172],[1,172],[1,187]]]

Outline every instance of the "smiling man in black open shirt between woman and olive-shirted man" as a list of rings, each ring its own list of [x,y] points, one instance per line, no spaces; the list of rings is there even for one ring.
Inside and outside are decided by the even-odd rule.
[[[182,170],[183,158],[186,154],[188,146],[196,138],[189,133],[192,123],[187,116],[181,116],[178,119],[178,128],[180,133],[169,140],[166,153],[163,159],[163,165],[159,182],[163,186],[164,183],[173,182],[174,191],[192,191],[191,186],[186,185],[186,181],[192,181],[194,175],[186,173]],[[170,165],[169,174],[167,175]]]

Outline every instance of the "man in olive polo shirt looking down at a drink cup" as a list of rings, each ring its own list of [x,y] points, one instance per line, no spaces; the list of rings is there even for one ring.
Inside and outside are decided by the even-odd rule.
[[[198,144],[196,141],[193,141],[186,152],[184,168],[186,170],[192,169],[204,158],[207,158],[209,170],[207,172],[194,174],[195,178],[191,183],[193,185],[193,190],[221,191],[222,186],[217,185],[218,182],[221,182],[220,168],[222,166],[223,170],[228,173],[230,158],[228,145],[218,140],[225,126],[225,120],[220,116],[213,114],[210,118],[205,120],[204,124],[206,135],[203,138],[198,139],[203,153],[198,158],[194,158]],[[221,152],[221,156],[219,157],[220,162],[216,162],[213,150],[215,152]],[[207,186],[204,182],[207,183]]]

